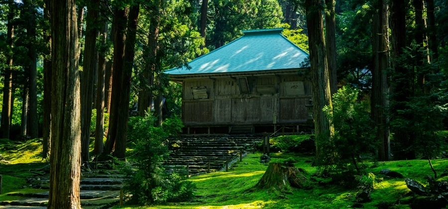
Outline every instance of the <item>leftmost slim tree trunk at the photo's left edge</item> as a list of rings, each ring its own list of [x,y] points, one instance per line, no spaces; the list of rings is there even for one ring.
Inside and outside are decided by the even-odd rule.
[[[8,22],[6,31],[7,51],[12,50],[12,38],[14,36],[14,26],[12,19],[14,18],[14,2],[10,0],[8,8]],[[12,53],[7,53],[11,54]],[[1,130],[3,132],[2,138],[9,138],[9,126],[11,124],[11,102],[12,102],[12,56],[6,58],[6,69],[3,79],[3,104],[1,106]]]

